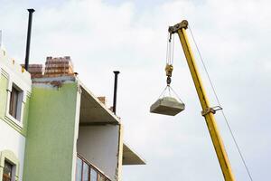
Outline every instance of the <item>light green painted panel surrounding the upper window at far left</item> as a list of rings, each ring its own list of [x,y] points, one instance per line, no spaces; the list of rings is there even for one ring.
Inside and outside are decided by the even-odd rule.
[[[5,121],[8,125],[14,128],[16,131],[21,133],[24,137],[27,134],[27,120],[28,120],[28,109],[29,109],[29,97],[27,97],[26,102],[24,103],[23,110],[23,129],[16,125],[13,120],[5,117],[6,111],[6,101],[7,101],[7,85],[8,80],[4,75],[0,75],[0,121]],[[26,93],[26,92],[25,92]]]

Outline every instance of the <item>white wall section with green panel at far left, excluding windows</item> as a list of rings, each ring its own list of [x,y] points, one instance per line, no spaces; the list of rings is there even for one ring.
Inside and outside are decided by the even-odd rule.
[[[18,104],[22,110],[20,120],[14,121],[8,112],[8,90],[15,83],[23,90],[23,101]],[[11,151],[19,160],[19,180],[23,180],[25,137],[27,135],[28,107],[31,93],[31,79],[22,67],[13,62],[0,50],[0,152]],[[2,178],[2,176],[1,176]],[[1,180],[1,179],[0,179]]]

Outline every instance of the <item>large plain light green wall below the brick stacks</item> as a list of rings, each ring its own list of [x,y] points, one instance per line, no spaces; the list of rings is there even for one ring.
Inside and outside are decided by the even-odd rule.
[[[33,87],[23,181],[70,181],[78,84]]]

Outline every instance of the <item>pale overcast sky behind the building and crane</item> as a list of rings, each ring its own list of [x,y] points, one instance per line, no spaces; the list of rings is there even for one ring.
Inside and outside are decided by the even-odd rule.
[[[251,175],[270,180],[270,1],[0,0],[0,5],[3,43],[17,62],[24,59],[25,9],[34,8],[31,63],[69,55],[79,79],[97,96],[107,96],[108,106],[112,71],[121,71],[117,115],[125,125],[126,143],[147,162],[124,167],[124,181],[223,180],[177,37],[172,86],[186,110],[175,117],[149,113],[165,86],[168,25],[187,19]],[[195,56],[216,106],[196,52]],[[249,180],[220,112],[216,118],[234,175],[239,181]]]

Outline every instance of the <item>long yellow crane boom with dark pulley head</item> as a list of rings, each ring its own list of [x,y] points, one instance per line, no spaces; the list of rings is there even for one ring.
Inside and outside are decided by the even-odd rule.
[[[188,41],[186,34],[186,29],[188,28],[188,22],[183,20],[180,24],[175,24],[174,26],[169,27],[169,33],[178,33],[180,41],[182,43],[182,50],[185,54],[186,61],[188,62],[189,69],[192,74],[192,80],[194,81],[195,88],[197,90],[199,99],[201,101],[201,115],[205,118],[207,127],[210,132],[210,138],[212,140],[213,146],[215,148],[217,157],[220,162],[220,167],[226,181],[234,181],[231,167],[229,165],[229,158],[227,157],[226,150],[224,148],[222,139],[220,137],[220,132],[214,118],[215,110],[210,107],[210,103],[206,97],[205,90],[201,82],[201,77],[199,71],[197,70],[194,57],[192,54],[192,49]]]

